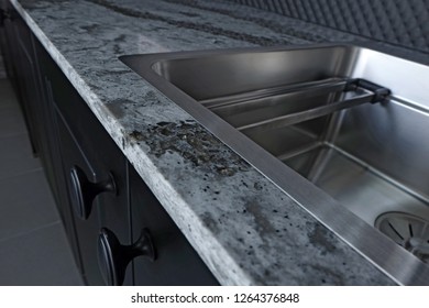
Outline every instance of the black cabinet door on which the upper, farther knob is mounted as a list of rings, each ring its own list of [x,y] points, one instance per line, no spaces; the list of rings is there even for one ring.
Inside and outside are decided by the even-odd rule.
[[[74,223],[81,254],[82,271],[87,283],[90,285],[105,284],[100,266],[98,264],[98,234],[102,228],[107,228],[117,234],[123,244],[131,243],[129,197],[127,186],[127,160],[108,132],[95,117],[87,103],[82,100],[73,85],[67,80],[53,61],[46,61],[44,65],[48,76],[53,105],[62,119],[62,125],[67,128],[73,136],[75,147],[79,148],[80,156],[85,162],[78,164],[70,157],[72,151],[65,142],[66,134],[59,136],[64,174],[67,178],[69,207],[75,208],[72,169],[78,166],[87,177],[88,185],[101,189],[102,185],[114,187],[114,191],[105,187],[106,190],[95,191],[91,205],[86,205],[87,217],[74,210]],[[58,131],[65,131],[58,130]],[[70,139],[70,138],[68,138]],[[65,144],[66,143],[66,144]],[[76,152],[76,151],[75,151]],[[110,183],[110,184],[109,184]],[[91,189],[92,189],[91,188]],[[89,190],[91,190],[89,189]],[[95,194],[87,189],[86,194]],[[76,215],[78,212],[78,215]],[[101,264],[101,268],[103,264]],[[132,284],[132,271],[124,277],[123,284]]]

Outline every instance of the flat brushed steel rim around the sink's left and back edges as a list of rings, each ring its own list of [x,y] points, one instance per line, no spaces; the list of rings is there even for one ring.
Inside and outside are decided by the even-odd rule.
[[[207,50],[160,54],[125,55],[120,61],[157,88],[164,96],[188,112],[222,143],[267,177],[284,194],[315,217],[330,231],[351,245],[358,253],[375,264],[382,272],[403,285],[429,285],[429,267],[413,254],[387,239],[374,227],[364,222],[339,201],[315,186],[305,177],[282,163],[265,148],[239,132],[223,119],[208,110],[193,97],[176,87],[154,69],[164,61],[210,57],[240,53],[287,52],[308,48],[344,47],[351,50],[383,51],[351,44],[317,44],[305,46],[276,46],[230,50]],[[138,65],[130,63],[136,61]],[[263,156],[264,160],[260,157]],[[393,257],[394,256],[394,257]],[[403,271],[404,264],[410,271]]]

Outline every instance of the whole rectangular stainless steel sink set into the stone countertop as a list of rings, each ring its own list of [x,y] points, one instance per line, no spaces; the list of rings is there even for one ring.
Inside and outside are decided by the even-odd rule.
[[[120,57],[399,284],[429,284],[429,68],[352,45]]]

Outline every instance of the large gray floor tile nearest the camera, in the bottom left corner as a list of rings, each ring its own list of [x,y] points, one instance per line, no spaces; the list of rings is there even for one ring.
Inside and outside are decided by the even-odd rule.
[[[61,223],[0,242],[0,285],[81,285]]]

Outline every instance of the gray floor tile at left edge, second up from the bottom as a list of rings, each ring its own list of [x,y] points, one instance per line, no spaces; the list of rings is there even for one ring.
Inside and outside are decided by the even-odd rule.
[[[42,170],[0,180],[0,241],[59,221]]]

